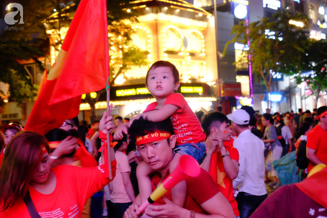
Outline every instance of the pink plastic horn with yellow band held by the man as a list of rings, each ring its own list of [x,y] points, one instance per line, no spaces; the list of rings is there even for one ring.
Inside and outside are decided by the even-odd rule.
[[[171,190],[177,183],[190,177],[198,177],[200,176],[200,173],[201,168],[199,163],[189,155],[182,155],[174,172],[163,180],[163,182],[152,192],[147,201],[142,203],[139,207],[140,213],[142,213],[148,205],[154,203],[157,199],[166,194],[167,191]]]

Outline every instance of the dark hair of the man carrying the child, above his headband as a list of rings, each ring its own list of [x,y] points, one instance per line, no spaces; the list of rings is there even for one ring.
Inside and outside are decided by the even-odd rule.
[[[144,136],[148,133],[154,132],[155,130],[166,131],[174,135],[174,128],[169,118],[161,122],[151,122],[149,120],[140,117],[134,120],[132,125],[128,129],[128,135],[130,143],[136,144],[136,138],[138,136]],[[169,143],[169,138],[167,139]]]

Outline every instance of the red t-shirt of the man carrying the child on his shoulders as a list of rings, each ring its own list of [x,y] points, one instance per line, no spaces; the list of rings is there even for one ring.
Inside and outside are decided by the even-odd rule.
[[[168,175],[167,175],[168,176]],[[154,174],[151,177],[152,191],[160,182],[160,175]],[[187,197],[184,204],[184,208],[193,210],[198,213],[206,214],[206,211],[202,209],[201,204],[211,199],[217,193],[219,188],[213,181],[212,177],[205,170],[201,169],[201,174],[197,178],[190,178],[186,180],[187,183]],[[168,191],[165,197],[172,200],[172,192]],[[156,205],[165,204],[161,198],[154,202]]]

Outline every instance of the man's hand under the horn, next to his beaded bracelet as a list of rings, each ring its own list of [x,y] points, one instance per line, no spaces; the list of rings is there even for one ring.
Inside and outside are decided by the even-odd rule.
[[[145,214],[155,218],[180,218],[189,217],[190,211],[173,203],[165,196],[162,199],[166,202],[164,205],[149,205],[145,209]]]

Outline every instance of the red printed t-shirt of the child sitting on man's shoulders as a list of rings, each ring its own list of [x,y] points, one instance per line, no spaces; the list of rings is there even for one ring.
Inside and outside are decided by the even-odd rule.
[[[170,95],[165,102],[165,105],[167,104],[179,107],[170,117],[174,126],[175,135],[177,136],[177,145],[189,142],[198,143],[206,140],[206,135],[202,130],[198,118],[195,116],[182,94],[175,93]],[[155,110],[156,106],[157,102],[149,104],[143,113]]]

